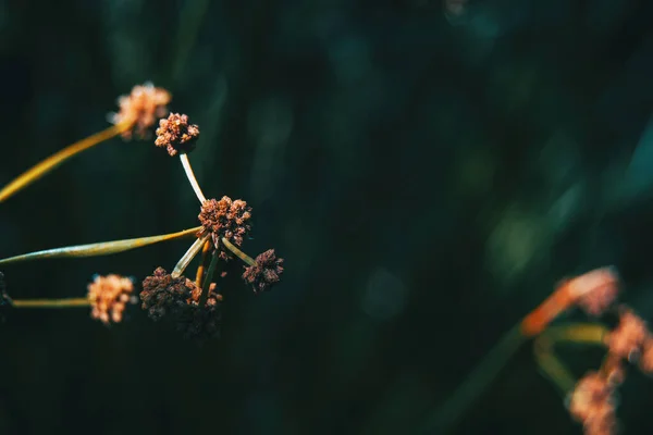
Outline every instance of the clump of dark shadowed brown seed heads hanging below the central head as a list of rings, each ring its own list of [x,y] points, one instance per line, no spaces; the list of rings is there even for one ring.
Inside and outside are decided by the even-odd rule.
[[[172,277],[158,268],[143,282],[143,309],[157,321],[165,316],[176,323],[187,338],[204,339],[219,333],[220,301],[215,285],[209,287],[206,304],[200,307],[201,288],[185,276]]]

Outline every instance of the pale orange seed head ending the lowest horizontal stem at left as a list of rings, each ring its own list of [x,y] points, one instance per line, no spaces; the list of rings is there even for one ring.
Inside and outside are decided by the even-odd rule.
[[[132,301],[133,291],[134,283],[130,278],[113,274],[96,276],[88,285],[90,316],[106,325],[121,322],[127,303]]]

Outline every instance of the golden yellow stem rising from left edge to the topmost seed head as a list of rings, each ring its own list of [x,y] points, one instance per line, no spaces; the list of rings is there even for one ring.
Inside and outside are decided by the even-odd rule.
[[[111,127],[109,127],[100,133],[97,133],[93,136],[89,136],[85,139],[82,139],[82,140],[62,149],[61,151],[50,156],[49,158],[41,161],[40,163],[37,163],[35,166],[27,170],[22,175],[19,175],[17,178],[15,178],[13,182],[9,183],[7,186],[4,186],[2,188],[2,190],[0,190],[0,202],[3,202],[9,197],[13,196],[17,191],[27,187],[29,184],[36,182],[37,179],[39,179],[40,177],[46,175],[48,172],[50,172],[54,167],[59,166],[65,160],[72,158],[73,156],[78,154],[79,152],[87,150],[107,139],[110,139],[114,136],[120,135],[121,133],[132,128],[132,125],[133,125],[133,123],[123,123],[123,124],[112,125]]]

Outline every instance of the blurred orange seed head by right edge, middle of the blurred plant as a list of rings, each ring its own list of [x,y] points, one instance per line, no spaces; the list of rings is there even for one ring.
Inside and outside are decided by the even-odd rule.
[[[650,333],[646,323],[627,308],[619,312],[619,324],[607,335],[608,351],[621,359],[639,357]]]

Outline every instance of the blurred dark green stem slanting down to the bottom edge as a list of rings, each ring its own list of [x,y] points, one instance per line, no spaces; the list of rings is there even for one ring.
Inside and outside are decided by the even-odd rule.
[[[485,391],[496,378],[507,360],[528,337],[521,333],[520,325],[508,331],[501,341],[476,366],[463,384],[451,395],[446,402],[427,417],[422,434],[446,434],[452,431],[460,417]]]

